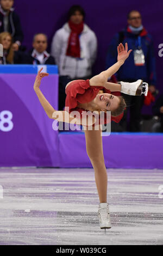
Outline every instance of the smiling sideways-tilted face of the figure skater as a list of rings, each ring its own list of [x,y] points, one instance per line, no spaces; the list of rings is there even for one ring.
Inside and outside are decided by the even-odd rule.
[[[109,93],[99,93],[95,102],[102,111],[115,111],[120,104],[120,98]]]

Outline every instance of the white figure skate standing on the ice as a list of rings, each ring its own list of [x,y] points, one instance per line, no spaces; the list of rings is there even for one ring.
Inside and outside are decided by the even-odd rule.
[[[100,203],[98,208],[99,225],[101,229],[111,228],[108,203]]]

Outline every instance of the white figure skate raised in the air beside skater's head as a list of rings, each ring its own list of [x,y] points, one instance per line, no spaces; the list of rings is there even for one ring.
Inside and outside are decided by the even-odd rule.
[[[136,82],[128,83],[128,82],[118,82],[121,84],[121,93],[128,95],[137,95],[140,96],[145,94],[147,96],[148,93],[148,83],[143,82],[143,80],[139,79]]]

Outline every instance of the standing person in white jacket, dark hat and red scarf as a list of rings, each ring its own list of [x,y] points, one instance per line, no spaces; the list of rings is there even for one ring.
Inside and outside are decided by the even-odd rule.
[[[59,66],[59,110],[65,106],[65,87],[72,80],[89,79],[96,59],[97,38],[84,23],[80,5],[68,11],[68,22],[53,36],[51,54]]]

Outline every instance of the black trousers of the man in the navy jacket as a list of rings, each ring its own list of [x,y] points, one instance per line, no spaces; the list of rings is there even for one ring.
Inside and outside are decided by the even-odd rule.
[[[122,94],[126,105],[129,106],[124,111],[120,125],[123,131],[139,132],[140,131],[140,121],[141,121],[141,108],[143,105],[144,95],[141,96],[130,96],[127,94]],[[129,127],[127,124],[128,111],[130,111]]]

